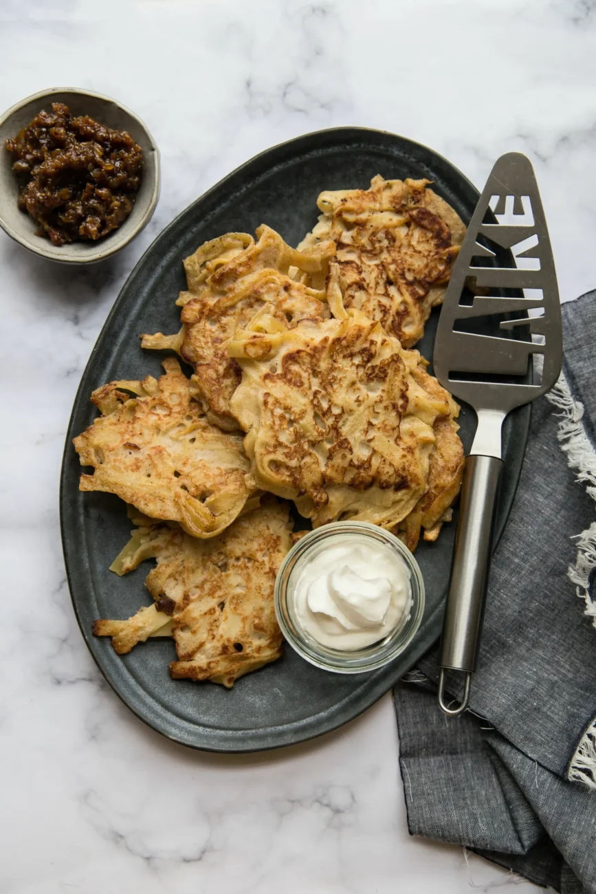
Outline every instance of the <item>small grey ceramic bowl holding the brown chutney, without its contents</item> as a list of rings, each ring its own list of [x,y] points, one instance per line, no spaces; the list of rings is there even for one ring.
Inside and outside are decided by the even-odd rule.
[[[18,183],[13,172],[13,156],[4,148],[4,141],[16,134],[42,108],[51,103],[65,103],[71,114],[88,114],[98,122],[118,131],[128,131],[143,150],[143,175],[130,215],[117,230],[97,242],[72,242],[52,245],[45,236],[36,236],[37,223],[17,207]],[[145,124],[115,99],[71,87],[41,90],[13,105],[0,117],[0,226],[26,249],[41,257],[64,264],[93,264],[123,249],[151,220],[159,198],[159,151]]]

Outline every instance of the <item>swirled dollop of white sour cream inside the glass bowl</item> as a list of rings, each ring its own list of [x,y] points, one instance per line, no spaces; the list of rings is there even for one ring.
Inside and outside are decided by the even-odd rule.
[[[411,605],[406,563],[373,537],[336,535],[297,568],[298,621],[328,648],[350,651],[373,645],[401,627]]]

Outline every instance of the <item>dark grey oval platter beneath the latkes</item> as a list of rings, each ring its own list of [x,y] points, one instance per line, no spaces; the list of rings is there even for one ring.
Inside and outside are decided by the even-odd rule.
[[[478,192],[446,159],[383,131],[338,128],[290,140],[256,156],[198,198],[166,227],[130,274],[88,361],[72,410],[61,480],[63,550],[72,602],[85,642],[105,679],[130,710],[154,730],[183,745],[220,752],[291,745],[334,730],[365,710],[406,673],[441,632],[455,525],[416,558],[426,586],[426,610],[407,654],[370,674],[320,671],[289,647],[281,661],[240,679],[231,690],[172,680],[171,640],[154,639],[119,657],[108,639],[91,634],[96,618],[128,618],[149,603],[144,580],[150,563],[125,578],[108,570],[130,535],[124,504],[115,496],[80,493],[80,464],[71,439],[95,416],[89,394],[113,379],[160,373],[160,357],[139,347],[140,333],[177,332],[174,306],[185,288],[182,259],[223,232],[254,232],[268,223],[290,245],[316,221],[321,190],[367,187],[371,177],[426,177],[467,223]],[[436,312],[418,345],[432,358]],[[525,451],[530,408],[510,414],[504,430],[504,475],[497,536],[513,502]],[[461,435],[469,447],[474,412],[462,408]]]

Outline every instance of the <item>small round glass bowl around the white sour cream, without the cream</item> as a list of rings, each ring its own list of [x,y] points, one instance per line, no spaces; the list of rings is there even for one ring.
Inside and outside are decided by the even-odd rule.
[[[295,580],[292,577],[298,562],[299,567],[304,567],[303,561],[309,552],[316,554],[331,545],[330,538],[346,534],[361,536],[363,539],[370,537],[382,544],[390,545],[407,565],[412,596],[409,614],[399,619],[396,628],[374,645],[354,651],[331,649],[317,643],[300,625],[293,598]],[[364,673],[375,671],[392,662],[416,636],[424,614],[424,580],[416,559],[398,537],[382,527],[369,525],[364,521],[336,521],[330,525],[316,527],[294,544],[277,573],[274,599],[275,614],[281,633],[307,662],[323,668],[324,671]]]

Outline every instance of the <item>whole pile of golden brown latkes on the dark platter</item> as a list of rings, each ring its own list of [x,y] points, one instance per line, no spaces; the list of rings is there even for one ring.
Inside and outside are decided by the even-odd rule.
[[[318,206],[298,249],[263,225],[187,257],[180,332],[142,339],[168,352],[164,375],[98,388],[101,416],[74,441],[94,468],[81,489],[129,503],[135,529],[113,570],[156,560],[154,603],[94,632],[119,653],[173,637],[175,678],[231,687],[281,654],[288,501],[313,527],[367,521],[414,550],[459,491],[459,408],[411,349],[464,224],[428,181],[375,177]]]

